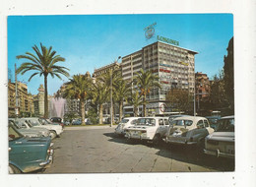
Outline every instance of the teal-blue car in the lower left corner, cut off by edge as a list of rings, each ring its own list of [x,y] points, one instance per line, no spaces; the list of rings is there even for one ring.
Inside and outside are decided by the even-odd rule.
[[[10,123],[9,173],[26,173],[47,167],[52,162],[50,137],[27,138]]]

